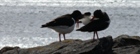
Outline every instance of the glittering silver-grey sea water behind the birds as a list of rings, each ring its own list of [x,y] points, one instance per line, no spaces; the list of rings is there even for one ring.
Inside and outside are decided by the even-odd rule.
[[[99,36],[113,38],[122,35],[140,36],[140,2],[138,0],[1,0],[0,48],[20,46],[30,48],[58,41],[58,33],[42,24],[73,10],[92,12],[101,9],[108,13],[111,24]],[[80,24],[80,27],[83,26]],[[76,28],[75,28],[76,29]],[[73,31],[67,39],[91,39],[93,33]]]

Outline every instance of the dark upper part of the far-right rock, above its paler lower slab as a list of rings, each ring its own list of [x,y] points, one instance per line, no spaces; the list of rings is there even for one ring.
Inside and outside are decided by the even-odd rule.
[[[115,38],[113,41],[114,48],[129,45],[140,45],[140,37],[138,36],[121,35]]]

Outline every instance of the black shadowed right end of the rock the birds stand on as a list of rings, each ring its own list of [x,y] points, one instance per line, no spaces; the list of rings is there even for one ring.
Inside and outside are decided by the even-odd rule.
[[[91,50],[82,52],[80,54],[112,54],[113,39],[111,36],[101,38],[99,43],[92,47]],[[88,48],[87,48],[88,49]]]

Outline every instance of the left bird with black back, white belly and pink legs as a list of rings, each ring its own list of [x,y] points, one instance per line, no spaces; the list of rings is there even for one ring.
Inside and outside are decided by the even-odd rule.
[[[75,23],[78,23],[77,21],[79,19],[83,18],[82,13],[79,10],[73,11],[72,14],[65,14],[62,16],[57,17],[56,19],[44,24],[41,26],[41,28],[51,28],[59,33],[59,41],[61,42],[61,34],[65,38],[65,34],[70,33],[74,30]]]

